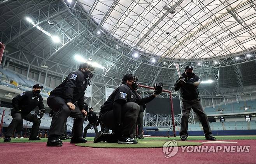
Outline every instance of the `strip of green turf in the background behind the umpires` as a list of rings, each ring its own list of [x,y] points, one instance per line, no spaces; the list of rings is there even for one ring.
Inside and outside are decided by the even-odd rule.
[[[256,140],[256,135],[249,135],[249,136],[215,136],[217,140]],[[94,137],[86,137],[88,141],[93,141]],[[145,137],[144,139],[138,139],[138,141],[141,140],[180,140],[180,137]],[[189,136],[189,140],[205,140],[205,137],[203,136]],[[70,140],[62,140],[63,142],[70,142]],[[0,143],[3,143],[4,139],[0,139]],[[47,138],[41,138],[39,141],[29,141],[28,138],[23,139],[15,139],[12,138],[13,143],[17,142],[47,142]]]

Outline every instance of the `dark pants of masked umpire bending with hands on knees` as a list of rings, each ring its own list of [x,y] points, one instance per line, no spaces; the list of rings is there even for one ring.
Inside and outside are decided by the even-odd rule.
[[[70,110],[66,101],[58,96],[49,96],[47,98],[48,106],[53,109],[54,116],[52,118],[49,135],[60,136],[63,131],[63,125],[67,121],[68,116],[74,118],[73,132],[74,137],[82,136],[82,126],[84,122],[84,115],[75,106],[75,110]]]

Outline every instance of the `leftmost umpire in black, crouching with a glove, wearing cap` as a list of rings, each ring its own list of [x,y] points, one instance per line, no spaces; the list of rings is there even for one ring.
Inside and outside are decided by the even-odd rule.
[[[12,122],[8,126],[4,142],[11,141],[14,130],[18,125],[21,125],[23,119],[33,123],[31,135],[28,140],[40,140],[40,137],[37,136],[37,132],[39,130],[41,120],[30,112],[38,106],[40,113],[42,113],[42,115],[45,113],[46,110],[43,104],[43,97],[40,95],[42,88],[44,87],[39,84],[35,84],[32,91],[23,92],[12,99]]]

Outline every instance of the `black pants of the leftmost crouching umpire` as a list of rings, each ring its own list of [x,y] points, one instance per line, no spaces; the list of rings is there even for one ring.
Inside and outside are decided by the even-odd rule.
[[[26,114],[26,115],[24,115],[22,113],[17,113],[15,109],[11,110],[11,116],[12,116],[12,122],[10,123],[10,125],[7,128],[7,132],[6,132],[5,136],[12,137],[12,134],[16,128],[17,128],[17,130],[22,128],[23,119],[33,123],[30,137],[37,136],[41,120],[39,120],[36,116],[34,116],[31,113]]]

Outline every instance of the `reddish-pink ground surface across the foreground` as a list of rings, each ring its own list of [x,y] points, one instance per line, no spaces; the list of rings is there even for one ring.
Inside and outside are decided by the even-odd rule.
[[[196,140],[195,142],[204,142]],[[162,148],[150,149],[102,149],[77,147],[67,142],[63,147],[46,147],[46,143],[0,144],[1,164],[73,164],[73,163],[256,163],[256,140],[228,140],[237,144],[203,145],[249,145],[245,153],[188,153],[181,147],[176,155],[166,158]]]

